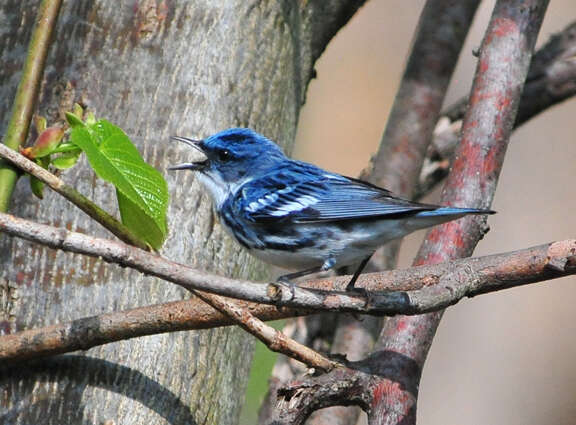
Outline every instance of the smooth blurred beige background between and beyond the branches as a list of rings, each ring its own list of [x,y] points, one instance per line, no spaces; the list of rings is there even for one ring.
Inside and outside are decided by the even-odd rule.
[[[357,176],[378,147],[423,0],[372,0],[336,36],[316,66],[293,156]],[[494,1],[484,1],[446,104],[465,96]],[[574,0],[550,2],[538,45],[576,20]],[[576,100],[531,120],[512,138],[475,255],[575,236]],[[426,201],[437,200],[438,193]],[[423,232],[407,238],[410,265]],[[576,277],[464,300],[444,315],[420,386],[418,423],[576,423]],[[243,413],[256,423],[274,358],[259,347]]]

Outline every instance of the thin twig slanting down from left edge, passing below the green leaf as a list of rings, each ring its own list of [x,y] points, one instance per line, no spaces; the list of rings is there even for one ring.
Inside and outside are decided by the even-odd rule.
[[[40,167],[35,162],[30,161],[24,155],[20,155],[15,150],[0,144],[0,157],[10,161],[13,165],[22,171],[33,175],[38,180],[43,181],[50,187],[50,189],[68,199],[104,228],[108,229],[118,239],[127,244],[137,246],[138,248],[149,250],[150,247],[136,235],[134,235],[126,226],[120,221],[116,220],[114,216],[110,215],[90,199],[86,198],[72,186],[67,185],[57,176],[50,171]]]

